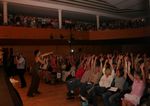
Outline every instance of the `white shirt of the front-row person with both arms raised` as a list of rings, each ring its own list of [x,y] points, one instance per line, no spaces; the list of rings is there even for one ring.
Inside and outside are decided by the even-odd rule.
[[[109,75],[108,77],[105,75],[105,68],[103,68],[103,76],[102,78],[100,79],[99,81],[99,86],[100,87],[105,87],[105,88],[108,88],[111,86],[111,83],[114,79],[114,76],[115,76],[115,72],[114,72],[114,69],[112,69],[111,71],[111,75]]]

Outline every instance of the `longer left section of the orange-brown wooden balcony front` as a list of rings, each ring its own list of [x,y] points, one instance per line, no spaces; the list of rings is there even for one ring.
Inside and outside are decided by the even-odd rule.
[[[88,32],[0,26],[0,39],[51,39],[51,36],[53,36],[53,39],[60,39],[60,35],[64,36],[64,39],[70,39],[71,34],[79,39],[88,39]]]

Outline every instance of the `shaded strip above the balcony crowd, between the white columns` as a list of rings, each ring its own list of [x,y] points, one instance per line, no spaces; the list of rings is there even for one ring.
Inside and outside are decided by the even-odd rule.
[[[31,11],[32,10],[32,11]],[[41,17],[58,17],[58,10],[51,8],[43,8],[29,5],[20,5],[16,3],[9,3],[8,5],[9,13],[21,14],[21,15],[30,15],[30,16],[41,16]],[[65,19],[74,19],[74,20],[86,20],[89,22],[95,22],[95,16],[90,14],[84,14],[79,12],[63,11],[62,17]]]

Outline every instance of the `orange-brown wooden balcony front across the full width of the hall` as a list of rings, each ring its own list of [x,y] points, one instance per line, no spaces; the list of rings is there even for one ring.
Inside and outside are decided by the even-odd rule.
[[[41,29],[0,26],[0,39],[70,39],[108,40],[150,37],[150,27],[99,31],[71,31],[63,29]]]

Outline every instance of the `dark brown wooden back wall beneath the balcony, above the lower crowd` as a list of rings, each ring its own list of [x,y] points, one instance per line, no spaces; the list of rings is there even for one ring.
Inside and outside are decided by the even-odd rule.
[[[14,55],[18,52],[24,54],[27,59],[27,63],[30,65],[33,63],[34,55],[33,52],[35,49],[39,49],[41,53],[53,51],[55,55],[69,55],[70,54],[70,46],[68,45],[22,45],[22,46],[2,46],[4,48],[13,48]],[[150,45],[73,45],[72,49],[75,50],[75,54],[100,54],[100,53],[113,53],[114,51],[119,52],[133,52],[133,53],[148,53],[150,54]],[[79,52],[79,49],[81,50]]]

